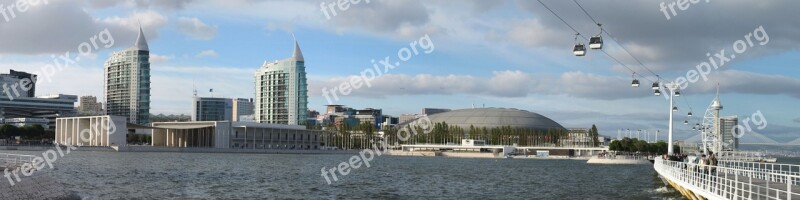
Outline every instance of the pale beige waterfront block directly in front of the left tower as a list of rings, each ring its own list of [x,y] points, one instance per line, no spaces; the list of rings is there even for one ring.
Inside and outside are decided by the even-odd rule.
[[[56,143],[72,146],[125,146],[127,123],[121,116],[56,119]]]

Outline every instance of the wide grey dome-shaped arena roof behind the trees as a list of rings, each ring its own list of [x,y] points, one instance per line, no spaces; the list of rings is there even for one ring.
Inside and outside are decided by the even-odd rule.
[[[471,108],[453,110],[428,116],[431,122],[447,123],[469,130],[470,125],[475,128],[494,128],[510,126],[514,128],[529,128],[541,131],[548,129],[564,129],[543,115],[518,109],[508,108]]]

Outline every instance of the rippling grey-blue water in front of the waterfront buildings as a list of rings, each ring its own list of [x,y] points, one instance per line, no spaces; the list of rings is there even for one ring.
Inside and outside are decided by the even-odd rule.
[[[40,154],[11,151],[8,153]],[[328,185],[350,155],[72,152],[51,173],[100,199],[675,199],[650,165],[377,157]]]

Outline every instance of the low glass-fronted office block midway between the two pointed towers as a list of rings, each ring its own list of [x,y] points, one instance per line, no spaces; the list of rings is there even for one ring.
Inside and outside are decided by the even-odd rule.
[[[192,121],[230,121],[233,102],[229,98],[198,97],[192,101]]]

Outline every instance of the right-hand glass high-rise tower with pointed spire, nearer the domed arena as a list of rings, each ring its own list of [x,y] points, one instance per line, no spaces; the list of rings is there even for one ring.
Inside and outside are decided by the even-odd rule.
[[[297,41],[291,58],[264,62],[255,73],[255,121],[304,125],[308,119],[308,85],[303,53]]]

